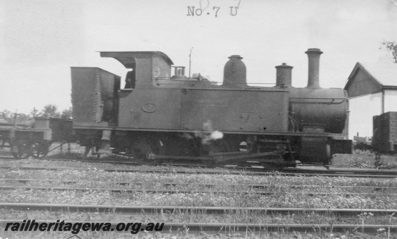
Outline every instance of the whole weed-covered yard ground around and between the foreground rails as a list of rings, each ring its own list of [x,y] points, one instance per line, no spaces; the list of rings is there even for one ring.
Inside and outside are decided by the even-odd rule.
[[[11,181],[0,181],[1,185],[11,186],[52,186],[57,187],[63,185],[64,187],[81,187],[81,188],[110,188],[110,187],[125,187],[132,189],[164,189],[161,184],[180,183],[189,184],[182,186],[168,187],[168,189],[193,190],[192,193],[113,193],[110,191],[55,191],[55,190],[3,190],[1,191],[1,202],[29,202],[29,203],[64,203],[64,204],[91,204],[91,205],[147,205],[147,206],[226,206],[226,207],[305,207],[305,208],[379,208],[379,209],[394,209],[397,208],[397,199],[389,197],[379,192],[378,196],[344,196],[344,190],[338,186],[354,186],[353,191],[365,191],[361,187],[397,187],[397,179],[369,179],[369,178],[344,178],[344,177],[305,177],[281,176],[277,173],[269,173],[267,176],[255,176],[250,173],[242,173],[240,175],[227,174],[202,174],[194,173],[196,169],[192,168],[193,174],[176,174],[172,167],[153,167],[164,169],[163,173],[110,173],[100,170],[101,167],[114,167],[109,164],[99,163],[81,163],[81,162],[55,162],[48,160],[27,159],[19,160],[13,163],[15,166],[52,166],[52,167],[78,167],[90,168],[90,170],[65,170],[65,171],[49,171],[49,170],[0,170],[0,178],[18,178],[18,179],[57,179],[57,180],[73,180],[77,181],[73,185],[64,185],[61,183],[49,182],[35,182],[29,184],[16,183]],[[127,167],[127,166],[126,166]],[[130,166],[128,166],[130,167]],[[151,167],[140,166],[145,169]],[[136,168],[136,167],[135,167]],[[115,181],[131,182],[128,185],[117,185]],[[137,184],[140,183],[140,184]],[[258,195],[256,193],[199,193],[194,190],[202,190],[199,184],[217,184],[211,188],[219,191],[227,190],[243,190],[247,191],[245,184],[266,184],[270,185],[266,190],[275,191],[273,195]],[[230,186],[233,184],[235,186]],[[309,186],[301,189],[291,189],[290,185]],[[201,188],[200,188],[201,187]],[[249,190],[248,190],[249,191]],[[318,192],[335,192],[328,196],[307,196],[304,192],[318,191]],[[351,190],[349,190],[351,191]],[[373,191],[370,191],[373,192]],[[390,191],[389,191],[390,192]],[[396,193],[395,191],[391,191]],[[359,224],[365,222],[388,224],[391,219],[392,224],[397,223],[397,218],[390,217],[373,217],[371,215],[355,215],[348,219],[337,219],[332,216],[322,216],[317,214],[300,214],[300,215],[262,215],[240,213],[236,215],[202,215],[194,213],[178,213],[175,215],[160,214],[160,215],[117,215],[104,213],[69,213],[69,212],[42,212],[42,211],[18,211],[0,209],[2,219],[43,219],[54,220],[63,218],[64,220],[81,220],[81,221],[155,221],[155,222],[252,222],[252,223],[351,223]],[[62,234],[53,232],[46,232],[44,234],[33,232],[3,232],[0,227],[0,237],[4,238],[68,238],[70,233]],[[90,232],[80,233],[81,238],[388,238],[385,232],[379,232],[377,235],[363,235],[359,232],[343,233],[343,234],[300,234],[297,232],[264,232],[258,233],[233,233],[222,232],[206,234],[202,232],[200,235],[189,234],[188,231],[175,231],[163,234],[145,234],[125,235],[116,233],[95,233]],[[392,235],[395,237],[396,235]]]

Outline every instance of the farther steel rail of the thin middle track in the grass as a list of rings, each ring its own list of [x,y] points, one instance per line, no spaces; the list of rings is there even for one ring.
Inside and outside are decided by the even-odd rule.
[[[0,181],[18,181],[18,182],[60,182],[66,184],[76,184],[76,183],[109,183],[109,181],[76,181],[76,180],[63,180],[63,179],[15,179],[15,178],[0,178]],[[160,184],[162,186],[199,186],[199,187],[248,187],[248,188],[292,188],[292,189],[304,189],[304,188],[338,188],[338,189],[369,189],[374,191],[385,191],[385,190],[397,190],[397,187],[386,187],[386,186],[338,186],[338,185],[268,185],[268,184],[216,184],[216,183],[172,183],[172,182],[132,182],[132,181],[111,181],[111,183],[118,185],[142,185],[147,183]]]

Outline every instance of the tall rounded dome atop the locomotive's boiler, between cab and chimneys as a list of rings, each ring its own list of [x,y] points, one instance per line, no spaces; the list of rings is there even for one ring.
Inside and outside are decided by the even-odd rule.
[[[243,57],[231,55],[223,70],[223,86],[230,88],[244,88],[247,85],[247,70]]]

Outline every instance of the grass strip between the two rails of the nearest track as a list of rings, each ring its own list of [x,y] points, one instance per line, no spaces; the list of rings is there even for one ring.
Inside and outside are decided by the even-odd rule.
[[[390,216],[363,216],[362,214],[352,217],[341,218],[334,214],[319,213],[297,213],[297,214],[266,214],[264,212],[241,210],[228,214],[207,214],[205,211],[186,211],[177,210],[172,213],[161,211],[151,213],[150,211],[141,213],[114,213],[114,212],[70,212],[70,211],[43,211],[32,210],[29,214],[23,210],[0,209],[5,220],[48,220],[56,221],[62,218],[66,221],[108,221],[108,222],[180,222],[180,223],[252,223],[252,224],[353,224],[353,225],[393,225],[396,217],[391,220]]]

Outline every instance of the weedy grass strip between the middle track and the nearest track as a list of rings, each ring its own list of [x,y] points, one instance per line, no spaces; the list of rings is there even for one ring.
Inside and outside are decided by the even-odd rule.
[[[110,192],[56,191],[56,190],[3,190],[2,202],[62,203],[88,205],[188,206],[188,207],[294,207],[294,208],[397,208],[395,196],[338,194],[308,196],[300,191],[276,192],[272,195],[243,194],[240,192]]]

